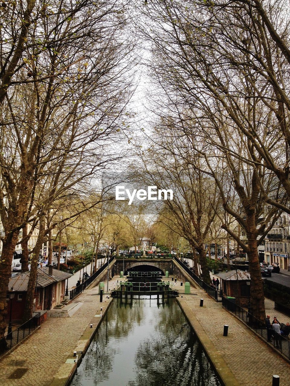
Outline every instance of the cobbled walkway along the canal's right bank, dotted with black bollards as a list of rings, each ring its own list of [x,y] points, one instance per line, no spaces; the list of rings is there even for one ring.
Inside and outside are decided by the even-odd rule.
[[[185,295],[184,287],[180,285],[174,289],[179,289],[178,302],[226,385],[270,386],[273,374],[280,376],[280,386],[289,385],[289,362],[225,310],[221,303],[197,284],[196,288],[191,288],[191,295]],[[204,299],[203,307],[200,307],[201,298]],[[266,306],[271,318],[276,316],[279,322],[279,318],[288,320],[282,313],[274,313],[271,300],[266,301]],[[223,336],[225,324],[229,326],[227,337]]]

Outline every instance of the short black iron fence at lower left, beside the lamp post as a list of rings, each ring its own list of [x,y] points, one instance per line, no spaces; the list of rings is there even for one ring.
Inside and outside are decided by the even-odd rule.
[[[40,312],[34,312],[33,317],[0,340],[0,356],[12,349],[21,340],[30,335],[40,324]]]

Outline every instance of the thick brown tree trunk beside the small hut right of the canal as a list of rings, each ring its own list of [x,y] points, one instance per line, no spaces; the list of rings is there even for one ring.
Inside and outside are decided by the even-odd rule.
[[[249,220],[248,220],[249,224]],[[258,246],[256,235],[256,226],[253,225],[252,232],[249,230],[247,234],[248,239],[248,257],[249,257],[249,271],[251,274],[251,287],[250,287],[250,304],[251,314],[257,319],[264,322],[266,318],[265,304],[264,304],[264,288],[261,277],[261,269],[258,257]]]

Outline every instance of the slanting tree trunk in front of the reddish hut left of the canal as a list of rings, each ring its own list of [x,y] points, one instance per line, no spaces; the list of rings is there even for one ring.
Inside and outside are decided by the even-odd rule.
[[[27,293],[26,293],[26,302],[25,302],[25,309],[23,314],[23,322],[26,322],[26,320],[32,318],[33,313],[33,306],[34,306],[34,297],[35,297],[35,289],[37,284],[37,266],[38,266],[38,257],[39,252],[41,251],[43,239],[44,239],[44,233],[45,233],[45,217],[41,216],[39,218],[39,233],[38,238],[36,241],[36,245],[31,257],[31,267],[30,267],[30,275],[29,275],[29,281],[27,286]]]

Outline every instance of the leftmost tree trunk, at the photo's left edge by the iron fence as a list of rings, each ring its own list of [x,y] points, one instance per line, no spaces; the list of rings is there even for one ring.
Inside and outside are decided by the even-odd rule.
[[[19,232],[14,232],[9,238],[4,239],[2,245],[2,258],[0,264],[0,339],[3,338],[6,329],[7,300],[6,294],[11,278],[12,258],[15,251]]]

